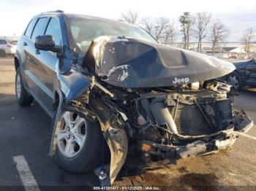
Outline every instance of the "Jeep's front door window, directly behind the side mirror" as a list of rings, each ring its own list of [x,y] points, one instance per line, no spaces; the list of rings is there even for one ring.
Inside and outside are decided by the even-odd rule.
[[[61,45],[61,28],[59,21],[56,18],[50,18],[50,23],[45,31],[45,34],[52,35],[56,45]]]

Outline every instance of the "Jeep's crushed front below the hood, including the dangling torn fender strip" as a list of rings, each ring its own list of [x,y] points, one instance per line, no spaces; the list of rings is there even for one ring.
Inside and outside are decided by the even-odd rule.
[[[94,88],[90,106],[108,127],[104,136],[116,161],[110,169],[119,171],[127,155],[150,164],[215,153],[232,146],[237,131],[253,125],[243,109],[233,109],[231,86],[217,79],[170,87],[106,87],[112,96]]]

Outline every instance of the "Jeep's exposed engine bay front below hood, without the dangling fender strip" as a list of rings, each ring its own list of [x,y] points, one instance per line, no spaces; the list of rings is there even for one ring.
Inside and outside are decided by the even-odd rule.
[[[123,93],[118,106],[111,106],[127,116],[129,148],[145,162],[218,152],[236,141],[236,131],[252,128],[245,112],[233,109],[230,85],[217,80],[193,85],[137,90],[138,98]]]

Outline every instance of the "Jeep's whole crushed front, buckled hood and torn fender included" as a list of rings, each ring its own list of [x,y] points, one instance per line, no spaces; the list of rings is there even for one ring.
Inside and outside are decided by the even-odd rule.
[[[99,122],[111,159],[97,173],[108,171],[108,184],[127,155],[144,163],[206,155],[230,147],[236,132],[252,128],[243,109],[233,109],[232,87],[217,80],[235,69],[232,63],[102,36],[76,67],[90,87],[70,103]]]

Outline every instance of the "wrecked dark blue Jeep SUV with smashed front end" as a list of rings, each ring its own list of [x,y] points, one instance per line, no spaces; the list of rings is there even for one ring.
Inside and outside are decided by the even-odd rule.
[[[206,155],[253,125],[218,79],[232,63],[159,44],[121,21],[37,15],[15,69],[18,104],[35,100],[53,117],[50,155],[67,171],[96,169],[106,184],[129,153],[145,163]]]

